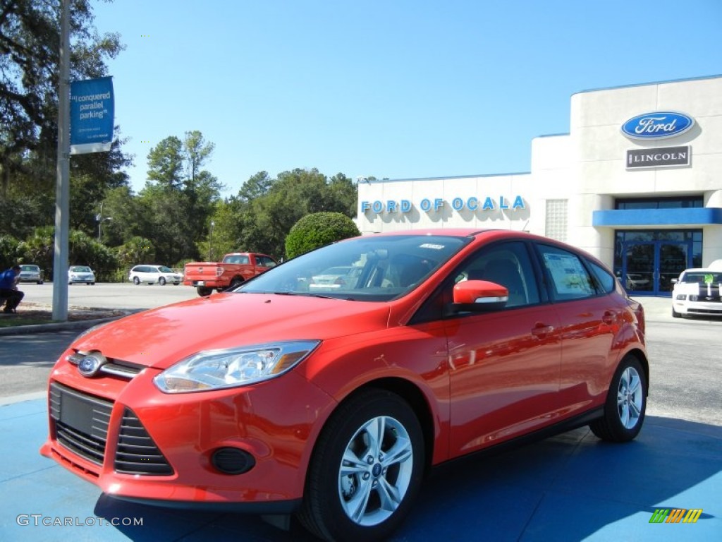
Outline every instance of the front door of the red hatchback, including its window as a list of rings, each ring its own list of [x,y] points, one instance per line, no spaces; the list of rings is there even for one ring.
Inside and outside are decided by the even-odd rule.
[[[481,249],[454,280],[490,280],[510,294],[503,309],[445,321],[450,451],[461,455],[557,420],[561,340],[526,242]]]

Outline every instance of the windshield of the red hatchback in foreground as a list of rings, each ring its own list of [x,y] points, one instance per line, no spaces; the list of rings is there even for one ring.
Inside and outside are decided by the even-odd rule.
[[[237,291],[388,301],[422,283],[469,241],[451,236],[357,237],[291,259]]]

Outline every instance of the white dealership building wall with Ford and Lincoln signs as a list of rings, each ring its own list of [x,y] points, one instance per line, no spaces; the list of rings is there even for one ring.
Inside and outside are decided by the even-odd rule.
[[[627,120],[652,111],[679,111],[695,119],[688,132],[669,139],[639,141],[622,134]],[[614,209],[617,198],[703,195],[705,207],[722,208],[722,77],[687,79],[577,93],[570,100],[570,132],[531,141],[531,173],[456,178],[406,179],[359,184],[358,224],[362,233],[412,228],[510,228],[544,235],[554,231],[612,264],[614,227],[593,226],[595,211]],[[691,165],[627,170],[627,150],[689,145]],[[454,198],[498,202],[517,195],[523,209],[453,210]],[[439,210],[421,210],[422,199],[443,200]],[[413,203],[409,212],[363,210],[362,202]],[[507,201],[508,202],[508,201]],[[547,202],[551,202],[547,205]],[[508,202],[509,203],[509,202]],[[566,205],[566,232],[547,224]],[[671,226],[638,226],[643,229]],[[703,229],[704,263],[722,258],[722,225],[679,225]],[[622,228],[619,228],[622,229]],[[633,227],[624,229],[634,229]]]

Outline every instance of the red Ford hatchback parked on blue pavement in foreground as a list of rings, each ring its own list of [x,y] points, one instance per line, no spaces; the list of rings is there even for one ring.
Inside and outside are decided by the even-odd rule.
[[[313,280],[334,267],[354,280]],[[41,452],[120,499],[385,538],[447,460],[583,425],[633,439],[644,323],[604,264],[547,238],[348,239],[78,337]]]

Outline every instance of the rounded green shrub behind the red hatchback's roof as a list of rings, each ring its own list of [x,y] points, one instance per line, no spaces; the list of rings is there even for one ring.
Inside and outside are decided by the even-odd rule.
[[[360,235],[354,221],[340,212],[305,215],[286,236],[286,257],[294,258],[319,246]]]

